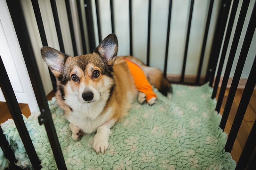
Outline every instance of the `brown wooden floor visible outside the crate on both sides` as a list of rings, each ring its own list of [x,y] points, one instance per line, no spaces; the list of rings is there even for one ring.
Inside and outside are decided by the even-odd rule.
[[[216,98],[218,98],[219,90],[220,90],[220,88],[218,89]],[[223,103],[222,103],[222,106],[220,109],[221,114],[223,113],[225,103],[227,101],[228,92],[229,92],[229,89],[227,89],[225,92]],[[235,118],[236,110],[238,108],[242,94],[243,94],[243,89],[237,89],[236,96],[235,96],[235,99],[234,99],[234,102],[233,102],[233,105],[231,107],[230,114],[228,117],[228,122],[227,122],[226,128],[224,130],[224,132],[226,132],[227,134],[229,133],[229,131],[231,129],[231,124],[233,123],[233,120]],[[54,93],[51,92],[47,96],[47,99],[51,100],[51,98],[53,96],[54,96]],[[28,105],[27,104],[19,104],[19,105],[20,105],[22,114],[25,115],[26,117],[28,117],[30,115]],[[12,118],[5,102],[0,102],[0,108],[1,108],[0,109],[0,123],[4,123],[6,120]],[[231,156],[233,157],[233,159],[236,162],[238,161],[238,159],[242,153],[242,150],[244,148],[247,137],[252,129],[252,125],[255,121],[255,118],[256,118],[256,90],[253,91],[250,103],[249,103],[246,113],[244,115],[244,120],[241,124],[240,130],[236,137],[235,144],[231,151]]]

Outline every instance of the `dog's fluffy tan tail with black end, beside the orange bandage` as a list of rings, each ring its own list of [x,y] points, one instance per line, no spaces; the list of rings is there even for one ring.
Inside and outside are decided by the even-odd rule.
[[[172,86],[164,78],[162,71],[154,67],[144,66],[143,70],[146,72],[148,81],[150,84],[156,87],[164,96],[171,98],[172,96]]]

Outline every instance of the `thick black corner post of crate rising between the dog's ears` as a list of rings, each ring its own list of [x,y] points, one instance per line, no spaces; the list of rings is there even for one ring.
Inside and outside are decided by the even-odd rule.
[[[84,5],[85,5],[84,7],[85,7],[87,30],[88,30],[88,36],[89,36],[89,42],[90,42],[90,52],[92,53],[96,48],[96,42],[95,42],[95,34],[94,34],[94,27],[93,27],[91,0],[84,0]]]

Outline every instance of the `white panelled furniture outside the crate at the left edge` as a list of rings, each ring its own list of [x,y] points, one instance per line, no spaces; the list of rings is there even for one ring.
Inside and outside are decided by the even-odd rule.
[[[38,111],[34,91],[5,0],[0,0],[0,55],[17,101],[28,103],[30,111]],[[5,101],[1,89],[0,101]]]

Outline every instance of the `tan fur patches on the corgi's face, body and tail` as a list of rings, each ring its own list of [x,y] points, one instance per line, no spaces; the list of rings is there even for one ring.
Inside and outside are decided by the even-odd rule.
[[[160,81],[163,78],[162,72],[157,68],[147,67],[145,66],[140,60],[138,60],[135,57],[132,56],[120,56],[116,58],[115,64],[114,64],[114,81],[115,81],[115,90],[113,91],[112,97],[106,104],[104,110],[101,114],[104,114],[106,110],[108,110],[109,107],[112,107],[113,111],[111,114],[110,119],[114,119],[117,121],[120,117],[124,117],[128,114],[128,110],[131,107],[131,101],[136,97],[137,90],[133,82],[132,74],[129,71],[129,68],[127,66],[127,63],[123,59],[132,60],[136,64],[138,64],[143,69],[150,68],[148,72],[146,72],[146,75],[149,78],[149,81],[152,85],[154,85],[157,89],[160,89]],[[73,60],[73,61],[70,61]],[[74,61],[75,60],[75,61]],[[76,58],[68,58],[67,62],[77,62]],[[81,70],[80,67],[74,66],[72,71],[70,71],[70,76],[74,73],[74,70],[76,70],[76,73],[78,77],[80,78],[80,81],[84,82],[85,84],[92,85],[93,83],[98,83],[98,81],[102,81],[102,79],[97,78],[95,80],[91,80],[91,67],[93,67],[93,64],[90,63],[85,69],[85,73]],[[94,67],[94,69],[97,68],[100,70],[99,67]],[[71,69],[68,68],[68,69]],[[103,76],[103,75],[100,75]],[[95,82],[94,82],[95,81]],[[58,81],[58,84],[60,82]],[[76,86],[79,86],[76,82],[71,81],[71,87],[72,89],[77,89]],[[65,90],[65,89],[64,89]],[[66,93],[66,91],[65,91]],[[129,95],[130,96],[127,96]],[[131,99],[130,101],[127,101],[127,99]],[[69,116],[71,110],[69,109],[68,105],[62,100],[60,91],[58,90],[56,92],[56,101],[59,104],[60,108],[62,108],[65,111],[66,116]]]

